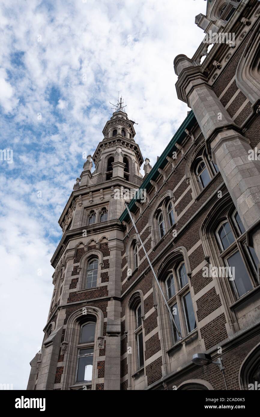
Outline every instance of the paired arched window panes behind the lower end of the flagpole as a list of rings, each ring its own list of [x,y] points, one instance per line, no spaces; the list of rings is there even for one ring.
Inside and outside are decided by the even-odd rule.
[[[192,297],[189,291],[189,282],[186,267],[183,261],[177,261],[173,268],[168,271],[165,280],[165,288],[169,306],[182,335],[187,335],[197,328]],[[172,319],[169,318],[172,328],[173,343],[179,341],[179,334]]]

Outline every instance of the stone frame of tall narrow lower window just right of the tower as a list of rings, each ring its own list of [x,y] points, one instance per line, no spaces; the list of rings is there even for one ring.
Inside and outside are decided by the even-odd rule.
[[[141,319],[142,324],[136,329],[136,309],[141,304]],[[131,354],[127,355],[128,365],[128,389],[134,389],[135,377],[137,375],[144,375],[144,366],[139,368],[138,363],[138,347],[136,335],[142,332],[143,335],[143,350],[145,352],[145,334],[144,334],[144,294],[141,290],[135,291],[126,304],[125,312],[125,334],[127,336],[127,346],[131,349]],[[145,355],[144,355],[145,363]]]

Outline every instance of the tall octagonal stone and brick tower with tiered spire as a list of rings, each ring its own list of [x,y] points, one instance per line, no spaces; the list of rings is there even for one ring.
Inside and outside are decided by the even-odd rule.
[[[122,102],[115,110],[59,219],[53,296],[27,389],[120,389],[124,199],[116,196],[139,188],[143,157]]]

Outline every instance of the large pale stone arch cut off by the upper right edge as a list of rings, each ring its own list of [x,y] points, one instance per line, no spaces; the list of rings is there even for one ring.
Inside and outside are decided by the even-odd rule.
[[[237,87],[252,105],[260,98],[260,19],[248,38],[250,48],[242,54],[236,70]],[[252,44],[251,44],[252,42]]]

